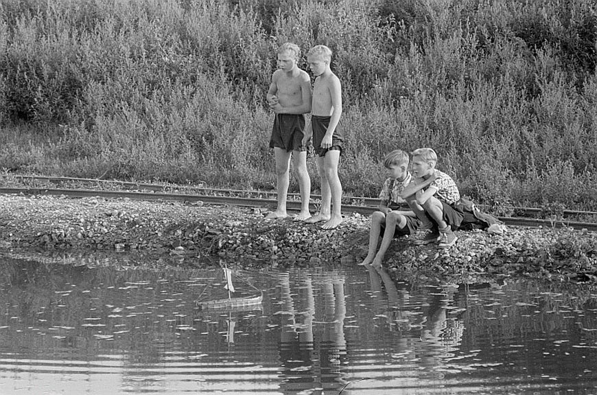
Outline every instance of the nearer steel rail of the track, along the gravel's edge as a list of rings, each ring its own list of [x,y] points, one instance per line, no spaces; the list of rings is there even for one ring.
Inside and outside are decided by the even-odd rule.
[[[234,196],[210,196],[198,194],[170,194],[155,192],[133,192],[133,191],[110,191],[110,190],[80,190],[80,189],[62,189],[62,188],[0,188],[0,194],[24,194],[24,195],[48,195],[48,196],[68,196],[71,198],[102,197],[106,199],[137,199],[144,201],[179,201],[179,202],[202,202],[211,205],[233,205],[241,207],[267,207],[269,209],[276,207],[276,200],[262,198],[247,198]],[[311,203],[312,211],[317,208],[316,203]],[[289,211],[299,211],[301,203],[288,201]],[[377,207],[366,205],[342,205],[344,213],[358,213],[362,215],[371,215],[377,210]],[[541,220],[537,218],[518,218],[518,217],[498,217],[506,225],[523,227],[572,227],[574,229],[587,229],[591,232],[597,232],[597,223],[583,223],[565,220]]]

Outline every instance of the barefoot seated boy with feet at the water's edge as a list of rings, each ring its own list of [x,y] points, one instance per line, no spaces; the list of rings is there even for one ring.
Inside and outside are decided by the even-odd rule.
[[[412,180],[408,172],[408,154],[403,150],[393,150],[386,155],[384,167],[390,176],[384,182],[382,192],[379,193],[379,211],[371,215],[371,230],[369,231],[369,251],[361,263],[374,267],[381,267],[384,254],[390,247],[390,242],[397,236],[413,233],[419,227],[419,220],[414,212],[410,211],[400,193]],[[382,244],[375,253],[379,234],[384,233]]]

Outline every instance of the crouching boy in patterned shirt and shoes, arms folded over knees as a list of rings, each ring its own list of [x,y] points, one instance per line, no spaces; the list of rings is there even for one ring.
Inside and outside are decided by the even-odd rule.
[[[432,148],[419,148],[412,152],[414,180],[405,188],[401,197],[410,210],[421,220],[415,245],[439,242],[438,248],[452,247],[458,237],[454,230],[463,221],[463,213],[454,209],[460,199],[456,183],[449,175],[435,169],[437,154]]]

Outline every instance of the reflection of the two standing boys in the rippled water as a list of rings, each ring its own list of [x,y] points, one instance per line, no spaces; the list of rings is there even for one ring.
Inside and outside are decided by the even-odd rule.
[[[346,382],[341,378],[341,358],[346,354],[344,339],[344,276],[337,273],[299,273],[292,293],[290,273],[279,280],[281,337],[279,343],[283,394],[338,393]],[[316,298],[316,294],[317,295]],[[316,306],[316,300],[320,306]],[[320,311],[322,321],[315,321]],[[314,322],[322,327],[314,337]],[[348,393],[348,392],[347,392]]]

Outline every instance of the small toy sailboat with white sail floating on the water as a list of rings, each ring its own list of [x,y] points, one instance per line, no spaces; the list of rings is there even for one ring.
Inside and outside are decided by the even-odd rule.
[[[201,300],[202,295],[209,289],[211,284],[207,284],[205,289],[201,292],[196,300],[195,304],[203,310],[225,310],[225,311],[246,311],[246,310],[259,310],[261,309],[261,302],[264,298],[264,293],[260,289],[257,289],[253,284],[250,284],[238,273],[227,267],[222,268],[224,274],[224,286],[223,289],[228,292],[228,297],[220,297],[215,300]],[[234,281],[239,280],[246,284],[250,291],[238,290],[234,286]],[[222,289],[220,289],[222,293]],[[214,293],[217,297],[218,290]]]

